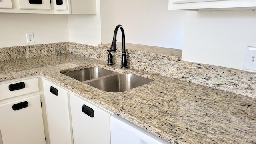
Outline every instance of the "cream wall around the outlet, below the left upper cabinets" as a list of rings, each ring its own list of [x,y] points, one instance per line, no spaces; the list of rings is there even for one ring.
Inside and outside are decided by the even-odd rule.
[[[0,48],[31,45],[26,32],[34,32],[32,44],[67,42],[67,15],[0,13]]]

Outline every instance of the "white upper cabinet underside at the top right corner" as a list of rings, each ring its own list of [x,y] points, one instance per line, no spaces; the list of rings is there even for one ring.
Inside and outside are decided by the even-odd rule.
[[[169,10],[251,10],[256,0],[169,0]]]

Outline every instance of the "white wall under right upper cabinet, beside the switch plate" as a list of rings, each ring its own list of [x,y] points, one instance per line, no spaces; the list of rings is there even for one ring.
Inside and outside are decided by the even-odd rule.
[[[243,69],[256,46],[256,11],[186,12],[182,60]]]

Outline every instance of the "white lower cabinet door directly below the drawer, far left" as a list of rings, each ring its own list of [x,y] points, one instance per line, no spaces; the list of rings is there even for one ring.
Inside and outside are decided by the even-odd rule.
[[[4,144],[45,144],[40,95],[0,105]]]

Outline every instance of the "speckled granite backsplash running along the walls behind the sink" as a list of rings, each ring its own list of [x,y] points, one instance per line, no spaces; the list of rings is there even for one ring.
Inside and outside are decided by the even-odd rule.
[[[108,60],[110,44],[88,46],[73,42],[39,44],[0,48],[0,60],[15,60],[70,52],[98,60]],[[182,50],[126,44],[126,56],[130,68],[143,70],[256,98],[256,73],[218,66],[181,61]],[[122,44],[112,53],[114,63],[121,64]]]

